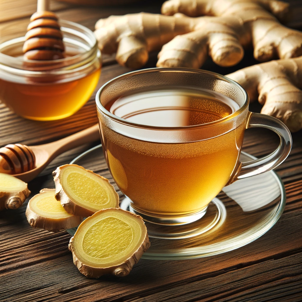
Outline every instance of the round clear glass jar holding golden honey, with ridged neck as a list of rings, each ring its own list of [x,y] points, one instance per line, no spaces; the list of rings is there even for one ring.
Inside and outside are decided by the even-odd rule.
[[[0,31],[0,101],[21,117],[57,120],[78,111],[94,91],[101,72],[101,53],[92,31],[61,20],[65,58],[24,60],[25,37]],[[16,35],[18,37],[16,37]]]

